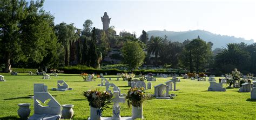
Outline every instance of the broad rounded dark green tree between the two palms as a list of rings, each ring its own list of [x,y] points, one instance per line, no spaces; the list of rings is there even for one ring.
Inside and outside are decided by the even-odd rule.
[[[180,65],[190,69],[190,72],[204,71],[212,58],[211,46],[201,40],[199,36],[198,38],[186,44],[179,57]]]

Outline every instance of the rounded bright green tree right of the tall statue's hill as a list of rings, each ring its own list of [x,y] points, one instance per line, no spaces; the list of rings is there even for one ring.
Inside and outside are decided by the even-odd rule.
[[[133,71],[143,64],[145,53],[138,42],[127,41],[121,49],[124,63]]]

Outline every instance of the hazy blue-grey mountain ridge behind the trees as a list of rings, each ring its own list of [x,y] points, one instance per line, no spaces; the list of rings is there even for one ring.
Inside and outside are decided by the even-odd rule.
[[[244,38],[235,38],[234,36],[227,36],[227,35],[219,35],[219,34],[213,34],[208,31],[202,31],[202,30],[194,30],[194,31],[184,31],[184,32],[173,32],[173,31],[147,31],[147,34],[149,34],[149,38],[153,36],[160,36],[164,38],[164,35],[167,36],[167,39],[171,41],[178,41],[183,42],[184,40],[192,40],[196,39],[198,35],[201,39],[203,39],[206,42],[212,42],[213,43],[213,49],[215,48],[221,48],[225,47],[227,43],[240,43],[244,42],[246,44],[252,44],[254,41],[251,40],[245,40]]]

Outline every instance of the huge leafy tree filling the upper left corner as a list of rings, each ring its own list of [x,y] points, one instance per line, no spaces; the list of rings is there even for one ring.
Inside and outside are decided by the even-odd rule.
[[[21,0],[0,2],[0,44],[4,51],[5,70],[11,71],[11,61],[41,63],[55,54],[57,39],[53,34],[53,17],[42,9],[44,1]],[[44,44],[45,43],[45,44]],[[51,52],[52,51],[52,52]]]

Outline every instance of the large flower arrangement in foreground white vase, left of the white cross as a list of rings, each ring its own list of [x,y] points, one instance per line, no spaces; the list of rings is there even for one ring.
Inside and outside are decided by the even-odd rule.
[[[105,108],[110,108],[108,105],[111,104],[112,94],[106,91],[88,90],[84,91],[84,96],[87,101],[89,101],[89,106],[94,108],[100,108],[100,113],[103,112]]]

